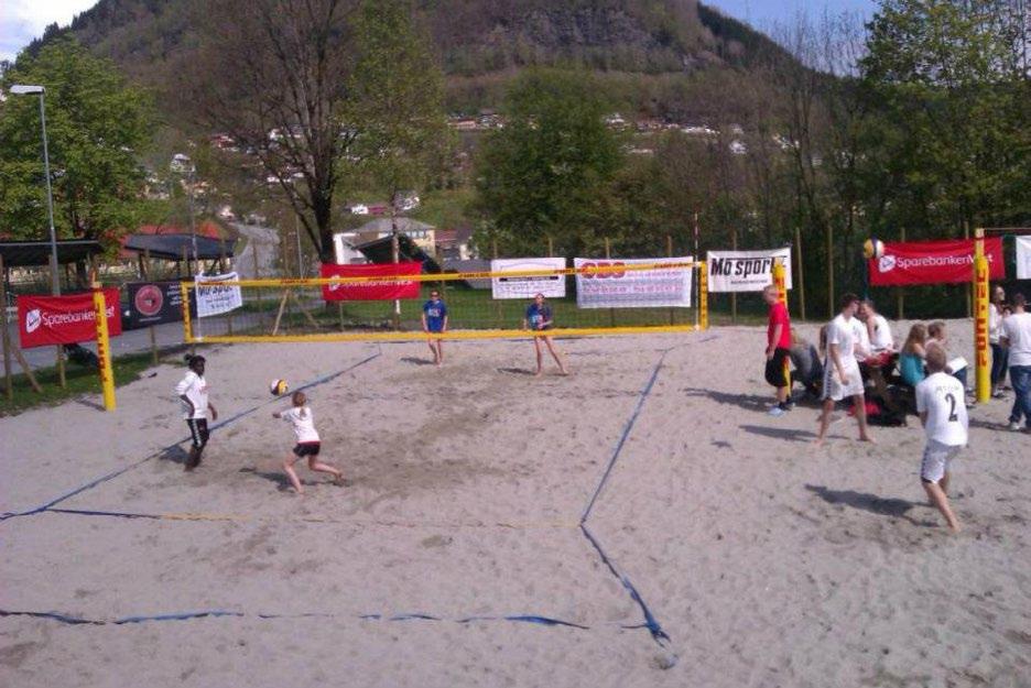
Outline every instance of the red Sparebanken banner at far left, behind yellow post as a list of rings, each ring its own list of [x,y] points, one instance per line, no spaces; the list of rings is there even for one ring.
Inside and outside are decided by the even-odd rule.
[[[107,306],[108,334],[121,335],[121,313],[118,288],[104,290]],[[94,323],[93,292],[67,296],[19,296],[18,334],[21,348],[93,341],[97,338]]]

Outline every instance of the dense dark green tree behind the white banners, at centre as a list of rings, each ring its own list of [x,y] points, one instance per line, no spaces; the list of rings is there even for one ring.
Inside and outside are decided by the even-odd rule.
[[[608,111],[586,73],[531,69],[513,81],[504,127],[487,136],[477,163],[476,204],[490,228],[480,243],[540,254],[551,237],[560,253],[597,250],[623,162]]]

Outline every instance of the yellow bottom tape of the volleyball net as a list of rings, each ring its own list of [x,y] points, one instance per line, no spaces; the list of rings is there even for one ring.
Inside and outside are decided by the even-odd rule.
[[[659,325],[652,327],[568,327],[552,330],[485,329],[453,330],[427,334],[409,332],[325,332],[314,335],[217,335],[194,337],[187,332],[186,343],[301,343],[318,341],[423,341],[433,339],[524,339],[527,337],[599,337],[604,335],[661,335],[669,332],[699,331],[694,325]]]

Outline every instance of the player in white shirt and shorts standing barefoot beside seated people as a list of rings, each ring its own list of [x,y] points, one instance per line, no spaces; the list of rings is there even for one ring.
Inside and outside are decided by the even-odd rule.
[[[831,413],[836,402],[846,396],[853,398],[856,422],[859,424],[859,439],[873,441],[867,432],[866,400],[862,396],[862,378],[859,375],[859,362],[856,360],[856,339],[854,327],[859,297],[855,294],[842,296],[842,312],[827,326],[827,362],[824,365],[824,404],[820,416],[820,434],[816,444],[823,444],[824,435],[831,425]]]

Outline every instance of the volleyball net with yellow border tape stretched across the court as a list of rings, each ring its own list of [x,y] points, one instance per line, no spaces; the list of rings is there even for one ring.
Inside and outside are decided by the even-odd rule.
[[[542,259],[536,259],[542,260]],[[564,264],[564,259],[551,259]],[[573,267],[422,274],[417,263],[324,265],[323,276],[181,283],[186,343],[405,341],[690,332],[708,327],[706,269],[691,259],[575,259]],[[355,274],[355,273],[362,274]],[[334,274],[344,273],[344,274]],[[541,293],[553,326],[525,328]],[[438,323],[438,320],[436,320]],[[432,329],[432,327],[431,327]]]

